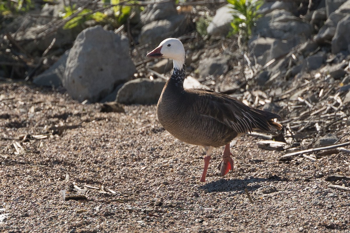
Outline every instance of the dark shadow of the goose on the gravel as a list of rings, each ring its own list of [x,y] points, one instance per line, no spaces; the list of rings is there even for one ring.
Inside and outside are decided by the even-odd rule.
[[[232,192],[237,191],[237,194],[241,194],[244,192],[244,189],[248,189],[249,191],[257,190],[258,188],[261,188],[262,185],[260,183],[262,182],[272,182],[272,181],[282,181],[280,177],[274,175],[268,178],[256,178],[252,177],[249,179],[220,179],[214,182],[210,182],[207,184],[204,184],[200,186],[200,189],[206,190],[207,192]],[[259,183],[254,185],[249,185],[250,183]]]

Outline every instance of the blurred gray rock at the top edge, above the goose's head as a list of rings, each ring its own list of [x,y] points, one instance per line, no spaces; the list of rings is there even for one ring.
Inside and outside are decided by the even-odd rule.
[[[157,2],[157,1],[146,1]],[[158,1],[160,2],[160,1]],[[148,4],[141,12],[141,22],[146,25],[153,21],[168,19],[169,16],[177,15],[175,1],[168,1],[162,3]]]

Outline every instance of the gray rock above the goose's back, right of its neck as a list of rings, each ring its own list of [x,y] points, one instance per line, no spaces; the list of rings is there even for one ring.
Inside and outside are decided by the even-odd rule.
[[[229,56],[204,58],[199,62],[198,70],[201,78],[214,75],[216,77],[222,75],[229,68]]]

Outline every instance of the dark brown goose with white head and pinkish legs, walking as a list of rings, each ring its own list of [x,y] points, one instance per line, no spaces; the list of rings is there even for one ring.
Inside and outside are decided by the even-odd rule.
[[[225,146],[221,175],[233,169],[230,142],[253,129],[270,131],[282,129],[274,122],[279,115],[248,107],[230,96],[201,89],[183,89],[186,74],[186,54],[182,43],[175,38],[165,39],[147,57],[173,59],[174,70],[163,88],[157,104],[159,122],[174,137],[205,149],[205,182],[213,147]]]

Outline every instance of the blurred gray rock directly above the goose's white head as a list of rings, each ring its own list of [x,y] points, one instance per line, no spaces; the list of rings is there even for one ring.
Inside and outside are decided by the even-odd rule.
[[[186,28],[184,15],[174,15],[165,20],[153,21],[142,27],[139,43],[158,45],[164,39],[177,35],[175,30],[181,25]]]

